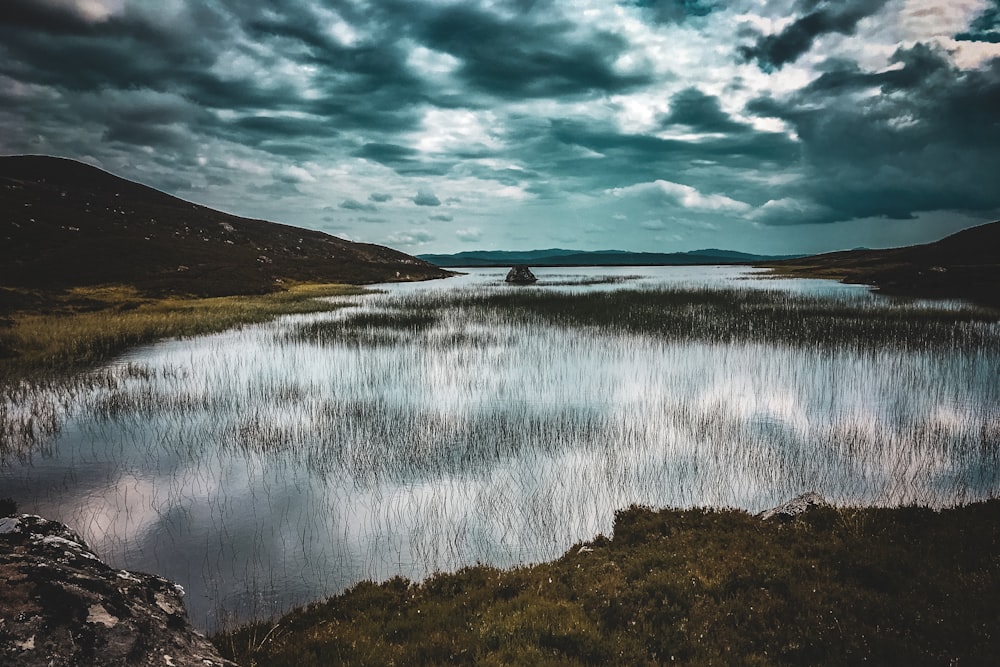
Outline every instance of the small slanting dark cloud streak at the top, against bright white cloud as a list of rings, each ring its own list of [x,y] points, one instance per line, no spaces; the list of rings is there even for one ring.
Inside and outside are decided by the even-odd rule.
[[[808,14],[796,19],[791,25],[775,35],[761,35],[753,46],[738,49],[746,61],[756,60],[761,69],[769,71],[781,69],[795,62],[809,49],[820,35],[854,33],[861,19],[882,9],[887,0],[807,0],[800,2],[800,8]]]

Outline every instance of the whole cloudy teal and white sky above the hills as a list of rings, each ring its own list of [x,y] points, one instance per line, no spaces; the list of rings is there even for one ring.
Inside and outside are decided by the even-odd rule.
[[[1000,0],[3,0],[0,153],[420,252],[1000,218]]]

